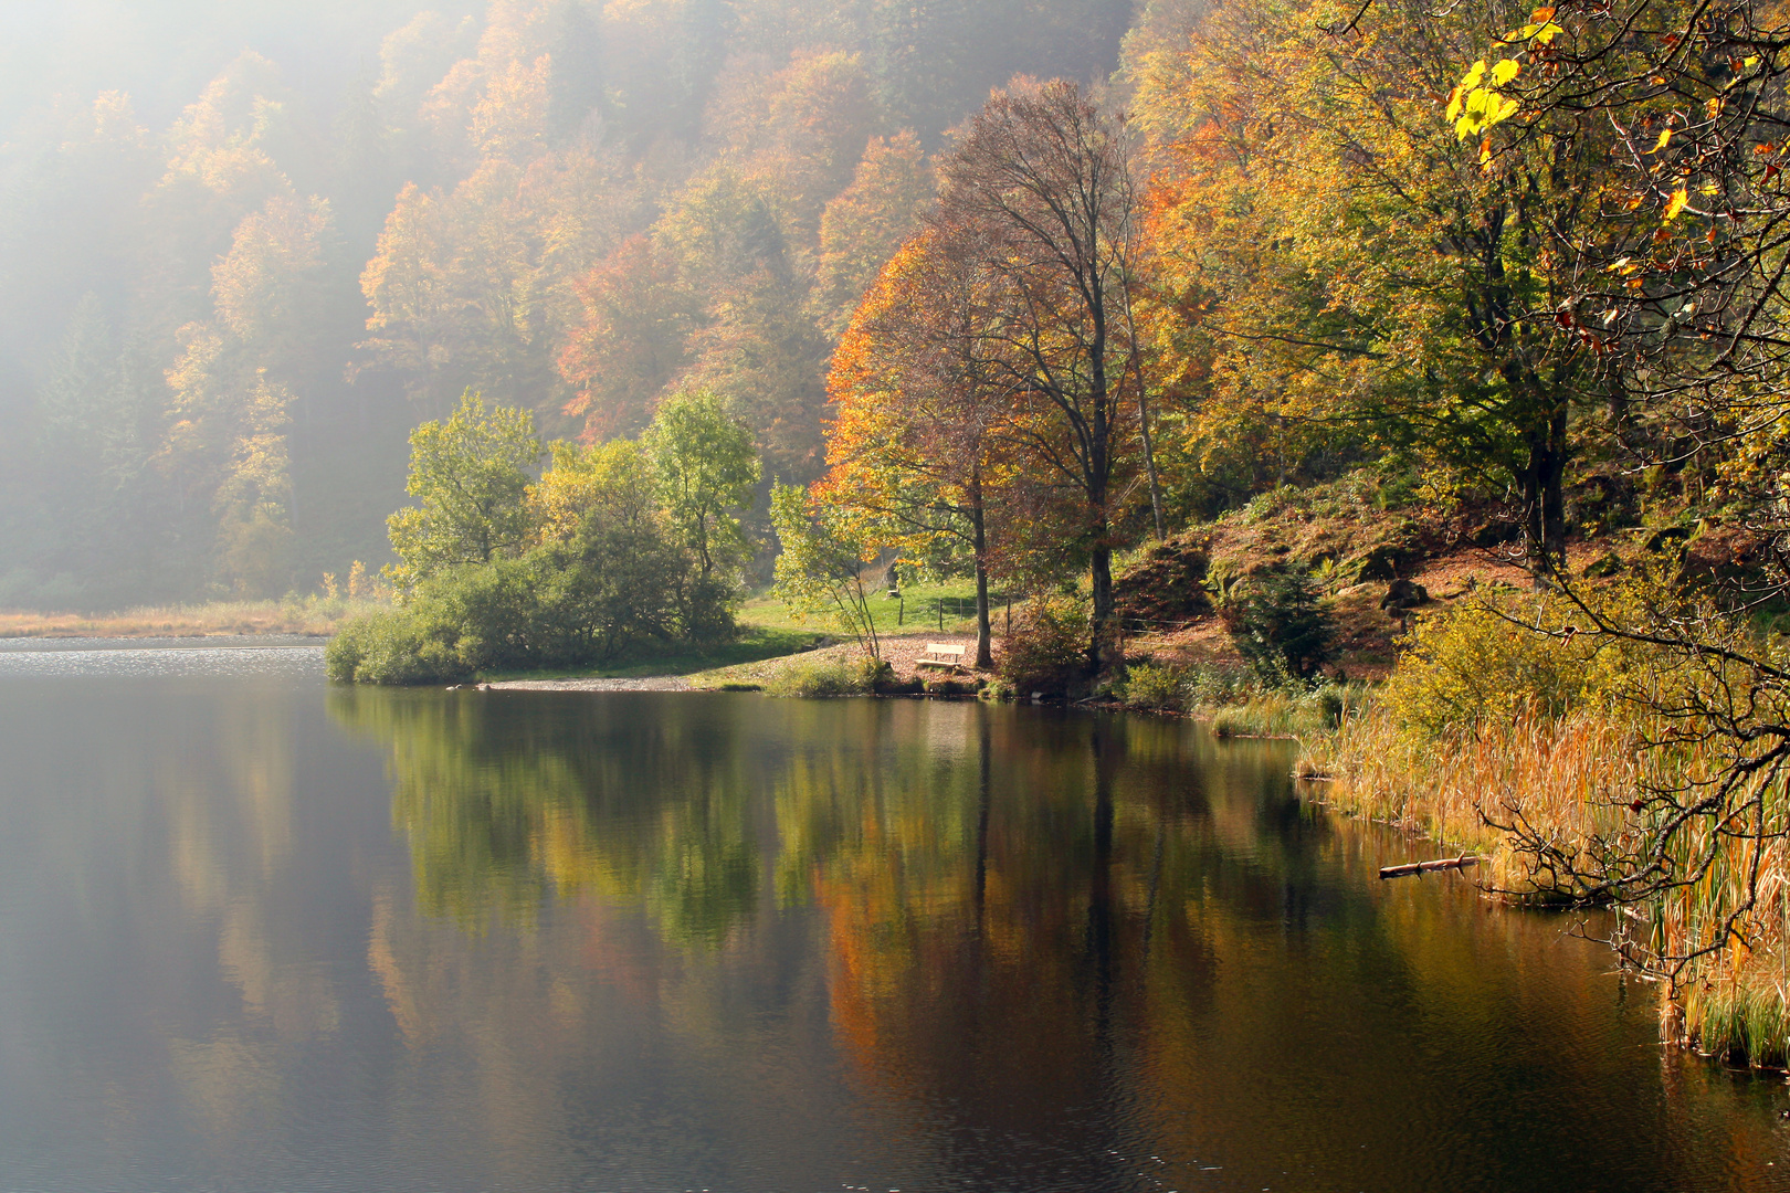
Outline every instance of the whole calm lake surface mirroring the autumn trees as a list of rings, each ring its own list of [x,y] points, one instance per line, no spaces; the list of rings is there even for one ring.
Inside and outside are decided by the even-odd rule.
[[[0,649],[0,1189],[1790,1189],[1781,1082],[1289,762]]]

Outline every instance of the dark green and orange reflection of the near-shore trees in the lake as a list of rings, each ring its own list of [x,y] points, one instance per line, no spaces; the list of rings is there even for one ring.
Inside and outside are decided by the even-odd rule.
[[[1645,994],[1616,1005],[1598,953],[1459,882],[1364,882],[1396,844],[1301,805],[1280,748],[895,701],[333,710],[390,749],[424,909],[490,930],[576,907],[585,962],[721,1053],[737,1016],[709,982],[789,1007],[816,980],[791,973],[791,914],[820,912],[843,1077],[934,1177],[1675,1188],[1735,1155],[1636,1100],[1638,1071],[1658,1082]],[[576,1018],[567,989],[544,998]],[[1745,1150],[1776,1157],[1749,1121]]]

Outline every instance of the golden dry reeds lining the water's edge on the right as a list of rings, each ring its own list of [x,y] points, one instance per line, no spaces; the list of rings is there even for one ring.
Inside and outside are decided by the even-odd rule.
[[[1649,817],[1668,810],[1643,796],[1700,791],[1722,773],[1717,746],[1659,746],[1663,728],[1650,714],[1624,715],[1611,706],[1564,715],[1523,708],[1482,723],[1477,733],[1430,737],[1378,705],[1310,742],[1300,773],[1328,774],[1334,782],[1321,796],[1342,812],[1430,837],[1443,853],[1489,857],[1487,893],[1547,903],[1570,898],[1579,875],[1548,869],[1536,841],[1566,859],[1632,853],[1650,839]],[[1763,823],[1783,825],[1781,783],[1767,796]],[[1670,853],[1686,882],[1624,909],[1613,944],[1643,973],[1665,977],[1668,1039],[1733,1062],[1783,1068],[1790,1059],[1790,850],[1769,833],[1692,817],[1672,837]]]

